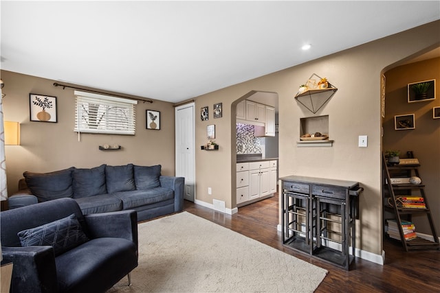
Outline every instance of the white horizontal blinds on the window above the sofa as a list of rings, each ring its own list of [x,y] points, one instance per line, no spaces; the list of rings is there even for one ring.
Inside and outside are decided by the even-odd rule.
[[[75,131],[107,134],[135,134],[137,101],[74,91]]]

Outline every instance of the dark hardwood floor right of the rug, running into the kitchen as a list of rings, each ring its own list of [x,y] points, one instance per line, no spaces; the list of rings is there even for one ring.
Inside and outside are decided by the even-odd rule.
[[[282,244],[278,225],[278,196],[239,208],[226,215],[185,200],[184,210],[230,228],[289,255],[328,270],[316,292],[440,292],[440,251],[406,253],[397,243],[384,242],[385,264],[356,258],[350,271],[309,257]]]

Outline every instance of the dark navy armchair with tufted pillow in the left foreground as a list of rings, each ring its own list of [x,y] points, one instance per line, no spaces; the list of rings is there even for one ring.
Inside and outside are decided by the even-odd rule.
[[[137,267],[137,213],[83,215],[72,198],[2,211],[11,292],[105,292]]]

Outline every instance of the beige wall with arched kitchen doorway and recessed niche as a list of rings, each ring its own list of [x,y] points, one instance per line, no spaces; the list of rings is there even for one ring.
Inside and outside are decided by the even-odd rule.
[[[223,200],[235,207],[235,119],[237,99],[250,91],[270,91],[279,97],[279,174],[317,176],[360,182],[357,248],[382,254],[380,76],[386,67],[439,45],[440,21],[376,40],[196,98],[196,111],[210,107],[209,121],[196,117],[196,145],[206,143],[206,126],[216,125],[218,152],[196,151],[196,198],[212,204]],[[294,99],[298,86],[312,73],[327,77],[338,92],[315,115],[329,115],[332,148],[297,148],[300,118],[315,116]],[[212,105],[223,102],[223,117],[212,119]],[[368,135],[369,147],[358,148],[358,136]],[[212,196],[207,188],[212,187]],[[362,223],[362,225],[360,225]]]

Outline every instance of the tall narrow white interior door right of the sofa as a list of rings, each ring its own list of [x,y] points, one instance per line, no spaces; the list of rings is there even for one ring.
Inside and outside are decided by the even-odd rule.
[[[195,200],[194,103],[175,109],[176,176],[185,177],[184,198]]]

